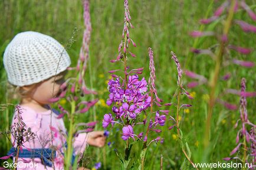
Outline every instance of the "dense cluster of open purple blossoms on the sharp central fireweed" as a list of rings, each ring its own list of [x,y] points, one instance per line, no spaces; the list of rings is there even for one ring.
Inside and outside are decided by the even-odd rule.
[[[116,118],[124,116],[135,119],[137,114],[150,106],[151,97],[147,94],[147,82],[145,78],[140,81],[138,75],[129,75],[127,87],[124,84],[124,81],[120,82],[120,78],[110,79],[107,105],[118,103],[112,108]]]

